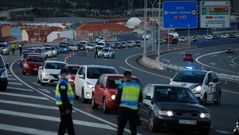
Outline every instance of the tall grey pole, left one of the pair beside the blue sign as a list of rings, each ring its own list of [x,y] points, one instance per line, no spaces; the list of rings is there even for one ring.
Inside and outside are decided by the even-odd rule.
[[[148,11],[147,11],[147,6],[148,6],[148,1],[144,0],[144,52],[143,52],[143,57],[146,57],[146,44],[147,44],[147,40],[146,40],[146,31],[147,31],[147,16],[148,16]]]

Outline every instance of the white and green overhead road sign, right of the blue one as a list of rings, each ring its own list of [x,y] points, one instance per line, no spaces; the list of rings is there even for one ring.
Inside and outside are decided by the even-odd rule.
[[[201,28],[229,28],[230,1],[202,1],[200,9]]]

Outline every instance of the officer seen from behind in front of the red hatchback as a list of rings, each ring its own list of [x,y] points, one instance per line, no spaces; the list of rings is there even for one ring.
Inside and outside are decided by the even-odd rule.
[[[132,81],[130,71],[125,71],[124,82],[119,86],[116,95],[116,103],[119,105],[118,135],[123,135],[124,127],[128,121],[131,135],[137,134],[139,102],[142,100],[140,85]]]

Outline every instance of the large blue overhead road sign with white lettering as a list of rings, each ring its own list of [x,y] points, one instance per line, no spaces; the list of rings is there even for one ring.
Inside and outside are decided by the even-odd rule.
[[[164,28],[197,28],[197,6],[196,1],[164,1]]]

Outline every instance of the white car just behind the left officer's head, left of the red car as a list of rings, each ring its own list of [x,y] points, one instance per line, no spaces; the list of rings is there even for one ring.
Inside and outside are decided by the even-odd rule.
[[[66,66],[62,61],[45,61],[38,70],[38,83],[57,84],[59,73]]]

